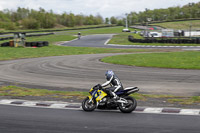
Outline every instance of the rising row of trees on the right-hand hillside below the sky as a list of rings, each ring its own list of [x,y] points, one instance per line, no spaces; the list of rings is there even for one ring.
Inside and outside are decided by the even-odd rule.
[[[182,7],[169,7],[167,9],[145,9],[143,12],[131,12],[128,14],[129,24],[155,22],[155,21],[175,21],[179,19],[200,18],[200,2],[189,3]]]

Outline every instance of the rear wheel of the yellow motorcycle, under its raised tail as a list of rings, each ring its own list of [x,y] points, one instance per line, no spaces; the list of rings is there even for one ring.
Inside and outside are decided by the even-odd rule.
[[[127,96],[124,99],[126,99],[128,101],[128,103],[120,104],[119,109],[123,113],[131,113],[132,111],[135,110],[135,108],[137,106],[137,101],[135,100],[135,98],[130,97],[130,96]]]

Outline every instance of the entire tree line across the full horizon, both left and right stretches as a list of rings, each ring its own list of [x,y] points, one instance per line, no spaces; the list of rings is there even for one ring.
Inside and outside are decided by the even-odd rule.
[[[174,21],[178,19],[200,18],[200,2],[189,3],[185,6],[169,7],[167,9],[145,9],[143,12],[130,12],[127,14],[129,25],[146,24],[155,21]],[[54,27],[74,27],[81,25],[116,24],[125,25],[125,17],[105,18],[101,15],[75,15],[64,12],[56,14],[52,10],[46,11],[18,8],[16,11],[0,11],[0,29],[40,29]]]

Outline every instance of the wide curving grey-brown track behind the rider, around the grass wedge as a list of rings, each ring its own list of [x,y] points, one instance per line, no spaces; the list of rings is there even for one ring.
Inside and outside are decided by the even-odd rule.
[[[143,68],[100,62],[116,54],[70,55],[0,62],[0,81],[87,89],[105,82],[104,73],[112,69],[124,87],[138,86],[141,92],[199,95],[200,71]]]

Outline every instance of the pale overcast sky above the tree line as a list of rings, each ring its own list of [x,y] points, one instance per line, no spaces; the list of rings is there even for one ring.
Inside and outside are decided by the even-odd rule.
[[[131,11],[144,11],[148,9],[168,8],[182,6],[200,0],[0,0],[0,10],[25,7],[38,10],[53,10],[55,13],[72,12],[74,14],[97,15],[104,18],[123,16]]]

